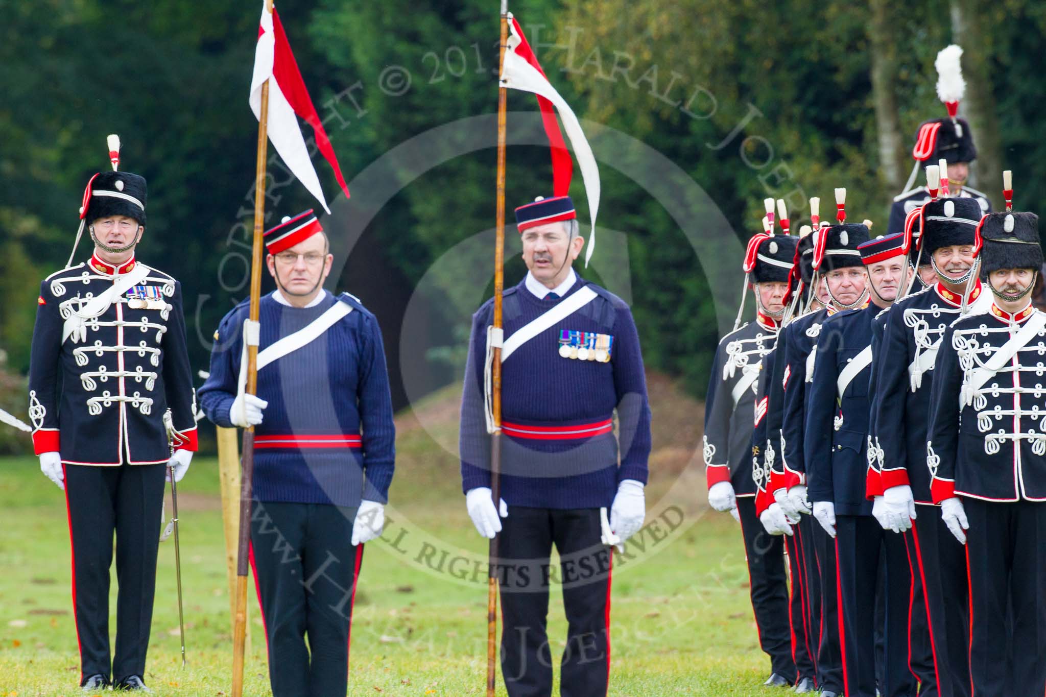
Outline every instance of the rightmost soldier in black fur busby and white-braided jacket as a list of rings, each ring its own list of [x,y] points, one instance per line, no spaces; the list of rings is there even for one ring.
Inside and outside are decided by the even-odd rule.
[[[1039,218],[991,213],[977,230],[993,303],[953,321],[940,341],[926,445],[930,492],[965,544],[972,694],[1041,695],[1046,315],[1029,298],[1043,263]]]

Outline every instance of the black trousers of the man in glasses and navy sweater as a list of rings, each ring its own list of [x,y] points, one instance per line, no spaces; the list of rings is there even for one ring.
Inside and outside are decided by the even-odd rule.
[[[363,545],[351,543],[355,518],[355,508],[253,504],[251,567],[273,697],[348,690],[353,601],[363,561]]]

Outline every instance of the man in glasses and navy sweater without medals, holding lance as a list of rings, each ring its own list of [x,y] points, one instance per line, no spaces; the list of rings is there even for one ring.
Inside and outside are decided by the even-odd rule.
[[[344,695],[363,543],[381,534],[395,459],[382,334],[359,300],[323,289],[333,256],[313,211],[265,242],[277,289],[257,324],[246,301],[222,320],[200,402],[220,426],[255,427],[251,566],[273,695]],[[259,340],[257,396],[245,334]]]

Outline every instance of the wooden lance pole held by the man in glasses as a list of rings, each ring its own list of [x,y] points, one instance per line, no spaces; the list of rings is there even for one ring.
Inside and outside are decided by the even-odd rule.
[[[272,14],[272,0],[266,0],[266,11]],[[258,147],[254,169],[254,247],[251,252],[251,323],[258,321],[262,296],[262,233],[265,227],[266,149],[269,144],[269,80],[262,85],[262,111],[258,114]],[[246,332],[244,341],[247,341]],[[247,394],[257,392],[258,347],[247,344]],[[254,473],[254,427],[244,431],[243,471],[240,482],[240,543],[236,548],[236,614],[232,629],[232,697],[244,694],[244,644],[247,638],[247,566],[251,535],[251,498]]]

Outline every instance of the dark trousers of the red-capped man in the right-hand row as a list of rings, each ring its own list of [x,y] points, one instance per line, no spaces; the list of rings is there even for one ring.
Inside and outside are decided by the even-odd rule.
[[[886,554],[883,697],[916,694],[908,668],[911,573],[904,538],[870,515],[836,516],[840,647],[847,697],[876,697],[876,600],[880,554]]]

